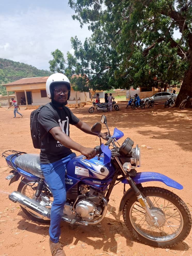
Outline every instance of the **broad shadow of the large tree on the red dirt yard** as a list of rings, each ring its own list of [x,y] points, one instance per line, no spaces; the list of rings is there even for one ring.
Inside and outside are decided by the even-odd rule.
[[[151,139],[167,139],[176,141],[182,149],[192,151],[192,108],[164,108],[162,104],[156,104],[153,108],[126,109],[126,103],[118,103],[119,111],[104,113],[94,111],[88,112],[89,108],[73,109],[73,113],[92,126],[95,122],[101,122],[101,116],[107,117],[107,124],[110,131],[114,127],[124,131],[127,129],[138,129],[143,136],[150,136]],[[142,131],[145,127],[145,131]],[[146,130],[146,127],[149,127]],[[126,129],[126,130],[125,130]],[[102,130],[106,127],[102,124]],[[154,136],[155,135],[155,136]]]

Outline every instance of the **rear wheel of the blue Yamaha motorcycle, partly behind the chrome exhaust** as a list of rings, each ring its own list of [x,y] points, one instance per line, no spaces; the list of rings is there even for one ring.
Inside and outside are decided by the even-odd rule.
[[[33,181],[29,181],[27,179],[23,179],[23,181],[26,183],[23,183],[22,181],[19,183],[18,189],[17,191],[20,192],[22,195],[27,196],[30,199],[34,199],[35,198],[35,192],[37,189],[37,185],[38,182],[34,183]],[[33,185],[34,183],[34,185]],[[32,186],[33,185],[33,186]],[[51,194],[51,192],[47,189],[47,187],[43,187],[42,192],[41,192],[41,196],[47,196],[49,197],[50,201],[53,201],[53,196]],[[38,197],[38,199],[40,198],[39,203],[42,201],[41,197]],[[37,199],[37,202],[38,202]],[[34,213],[26,210],[24,207],[21,206],[21,209],[23,210],[23,212],[25,212],[25,214],[34,221],[38,221],[38,222],[43,222],[43,223],[49,223],[50,220],[43,220],[41,217],[38,217],[37,215],[35,215]]]

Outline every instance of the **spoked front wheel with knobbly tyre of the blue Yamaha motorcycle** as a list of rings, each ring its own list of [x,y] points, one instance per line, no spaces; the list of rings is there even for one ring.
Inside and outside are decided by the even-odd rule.
[[[182,242],[191,230],[191,215],[187,205],[171,191],[158,187],[142,187],[141,193],[149,198],[149,206],[157,219],[155,227],[136,196],[127,198],[123,219],[127,228],[142,243],[170,248]]]

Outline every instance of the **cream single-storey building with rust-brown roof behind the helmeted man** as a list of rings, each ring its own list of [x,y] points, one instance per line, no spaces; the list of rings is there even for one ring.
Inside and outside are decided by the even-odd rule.
[[[3,86],[6,86],[8,97],[9,91],[15,92],[15,98],[19,105],[21,105],[22,98],[24,105],[26,105],[28,109],[35,109],[51,101],[47,98],[45,89],[47,78],[48,76],[21,78]],[[71,94],[68,100],[69,107],[75,107],[75,104],[84,106],[90,102],[90,100],[91,95],[89,92],[76,92],[71,87]]]

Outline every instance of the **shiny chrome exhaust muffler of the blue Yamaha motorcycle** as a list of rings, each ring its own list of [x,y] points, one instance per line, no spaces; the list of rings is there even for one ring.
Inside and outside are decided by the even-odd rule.
[[[18,203],[20,206],[25,208],[27,211],[35,214],[37,217],[42,218],[44,220],[50,220],[51,211],[49,208],[40,205],[38,202],[33,201],[31,198],[28,198],[25,195],[22,195],[20,192],[13,191],[9,195],[9,199],[14,203]],[[68,223],[71,222],[71,219],[66,218],[64,216],[62,216],[61,220]]]

